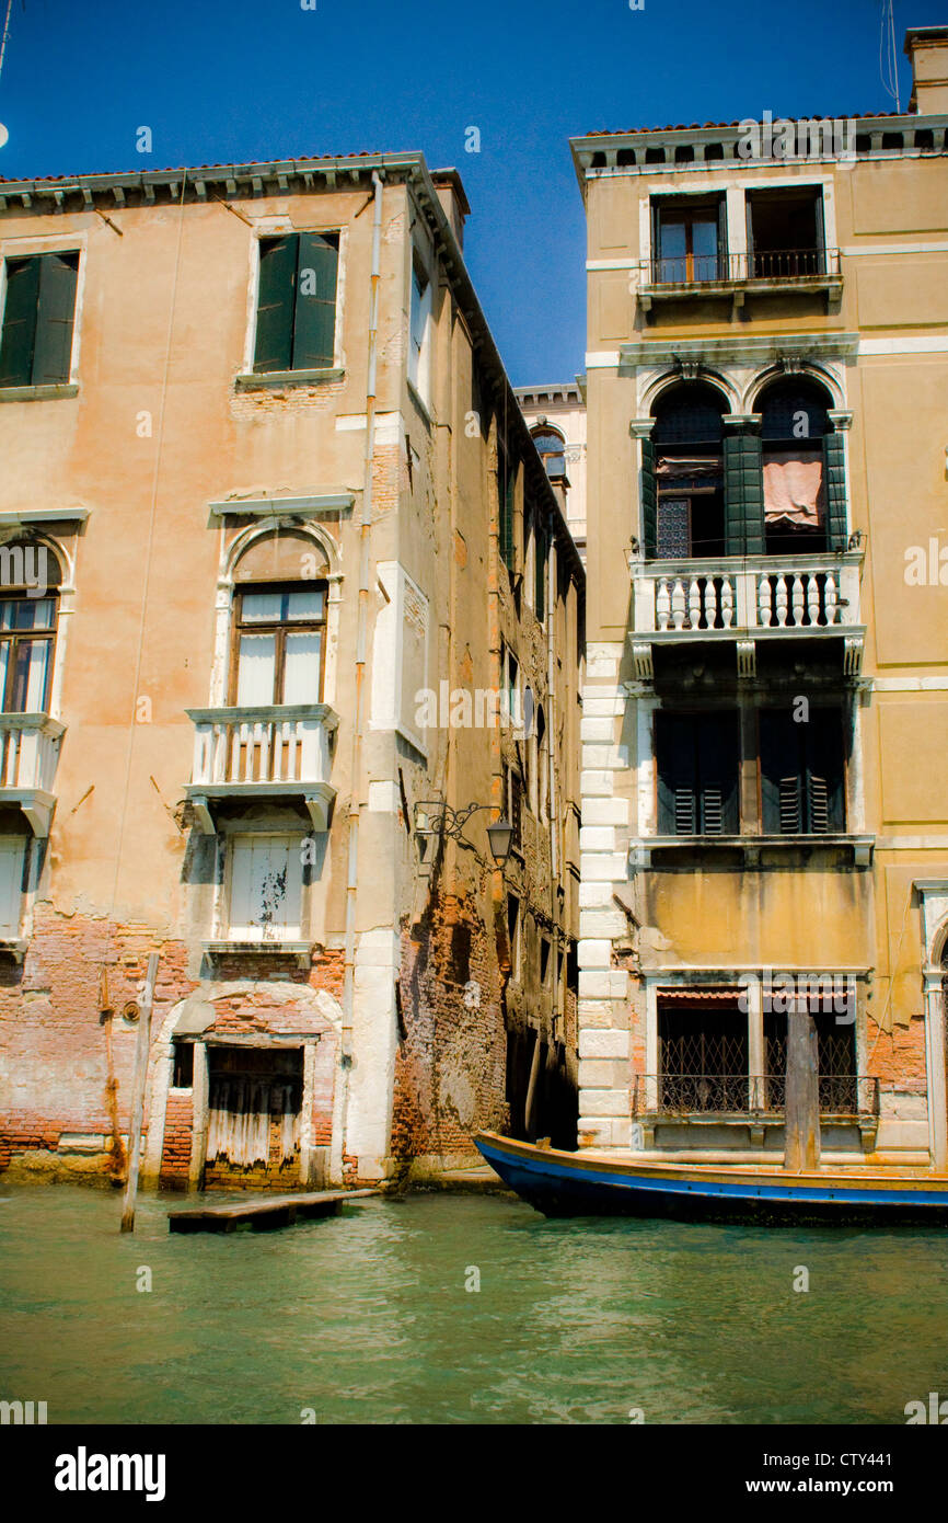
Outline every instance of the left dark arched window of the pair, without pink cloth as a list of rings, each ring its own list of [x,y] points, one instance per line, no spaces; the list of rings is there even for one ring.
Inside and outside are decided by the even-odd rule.
[[[670,387],[653,407],[659,557],[724,554],[724,411],[700,381]]]

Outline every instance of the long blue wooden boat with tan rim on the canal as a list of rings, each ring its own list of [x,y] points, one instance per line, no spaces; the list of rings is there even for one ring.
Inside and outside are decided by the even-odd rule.
[[[943,1174],[648,1164],[609,1153],[565,1153],[479,1132],[501,1179],[548,1217],[636,1215],[694,1221],[948,1224]]]

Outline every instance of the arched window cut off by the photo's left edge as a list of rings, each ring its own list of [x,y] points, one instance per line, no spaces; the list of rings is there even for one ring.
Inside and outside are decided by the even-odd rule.
[[[0,710],[49,711],[56,656],[59,562],[43,544],[0,545]]]

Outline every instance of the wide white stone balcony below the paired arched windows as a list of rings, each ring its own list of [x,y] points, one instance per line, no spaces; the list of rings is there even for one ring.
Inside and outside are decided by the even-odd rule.
[[[858,676],[861,550],[805,556],[628,557],[628,638],[636,676],[653,678],[653,647],[732,641],[738,672],[753,676],[758,640],[843,640],[843,669]]]

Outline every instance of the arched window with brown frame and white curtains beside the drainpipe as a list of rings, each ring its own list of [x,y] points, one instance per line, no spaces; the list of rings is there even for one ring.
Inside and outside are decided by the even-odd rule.
[[[324,556],[306,535],[256,541],[234,571],[230,702],[320,704],[326,666]]]

